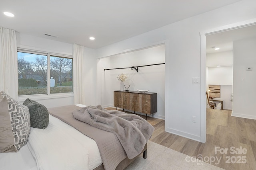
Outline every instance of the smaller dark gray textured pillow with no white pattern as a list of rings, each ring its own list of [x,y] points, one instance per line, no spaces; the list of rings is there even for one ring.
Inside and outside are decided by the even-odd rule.
[[[24,101],[23,105],[28,106],[31,127],[45,129],[48,126],[49,113],[44,105],[29,98]]]

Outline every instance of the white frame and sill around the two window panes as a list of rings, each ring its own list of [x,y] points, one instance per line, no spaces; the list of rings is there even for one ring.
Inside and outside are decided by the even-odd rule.
[[[21,49],[21,48],[18,48],[17,51],[22,53],[32,53],[32,54],[47,56],[47,94],[31,94],[31,95],[18,96],[19,102],[25,101],[27,98],[30,98],[32,100],[44,100],[44,99],[52,99],[52,98],[67,98],[67,97],[74,96],[74,86],[73,86],[73,92],[50,94],[50,56],[73,59],[72,55],[63,55],[59,53],[50,53],[50,52],[48,53],[46,51],[28,50],[28,49]],[[72,70],[74,70],[73,65],[74,64],[72,64]],[[73,76],[73,80],[74,80],[74,76]],[[74,82],[73,82],[73,85],[74,85]]]

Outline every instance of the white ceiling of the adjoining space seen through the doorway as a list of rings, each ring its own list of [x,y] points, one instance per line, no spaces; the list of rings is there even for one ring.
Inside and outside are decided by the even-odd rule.
[[[231,29],[206,36],[206,53],[219,53],[233,50],[233,41],[256,37],[256,25]],[[215,50],[212,47],[218,47]]]

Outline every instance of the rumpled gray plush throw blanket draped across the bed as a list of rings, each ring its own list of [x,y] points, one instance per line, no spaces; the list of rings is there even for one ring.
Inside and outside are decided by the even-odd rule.
[[[76,109],[73,116],[93,127],[114,133],[129,159],[142,152],[154,131],[154,127],[138,115],[102,109],[100,105]]]

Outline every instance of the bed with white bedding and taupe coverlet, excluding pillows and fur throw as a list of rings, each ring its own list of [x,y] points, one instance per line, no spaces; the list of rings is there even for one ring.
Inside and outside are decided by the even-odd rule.
[[[30,127],[28,141],[18,152],[0,153],[1,169],[111,170],[124,169],[142,153],[146,158],[146,145],[137,156],[129,159],[120,141],[114,137],[116,135],[72,116],[74,109],[84,107],[70,105],[48,109],[48,127]],[[95,137],[95,133],[100,137]]]

